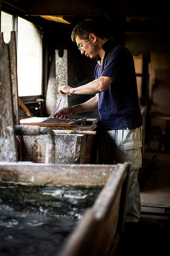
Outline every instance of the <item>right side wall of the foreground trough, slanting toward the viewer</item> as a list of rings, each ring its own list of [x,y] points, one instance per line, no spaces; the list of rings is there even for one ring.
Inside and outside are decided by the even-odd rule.
[[[118,224],[121,222],[123,228],[125,221],[126,198],[122,199],[122,188],[128,185],[126,178],[127,164],[118,164],[94,206],[85,213],[65,243],[60,256],[114,255],[119,241]]]

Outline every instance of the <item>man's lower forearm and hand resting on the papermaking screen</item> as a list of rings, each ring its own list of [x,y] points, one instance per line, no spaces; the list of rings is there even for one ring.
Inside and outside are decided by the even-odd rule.
[[[59,112],[53,115],[53,117],[69,118],[76,113],[84,113],[84,112],[96,110],[97,107],[98,107],[98,94],[96,94],[96,96],[94,96],[93,98],[90,98],[90,100],[82,104],[74,105],[74,106],[59,110]]]

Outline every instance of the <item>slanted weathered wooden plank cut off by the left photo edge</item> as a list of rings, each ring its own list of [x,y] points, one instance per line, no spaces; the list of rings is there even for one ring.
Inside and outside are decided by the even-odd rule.
[[[0,161],[16,162],[18,155],[14,134],[9,47],[3,43],[2,33],[0,42],[2,47],[0,55]]]

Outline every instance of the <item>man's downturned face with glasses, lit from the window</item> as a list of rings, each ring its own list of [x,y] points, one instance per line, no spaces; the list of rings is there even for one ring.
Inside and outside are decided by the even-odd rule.
[[[76,43],[81,51],[81,54],[84,54],[86,57],[90,57],[90,59],[93,59],[97,56],[97,49],[89,43],[88,39],[84,40],[76,36]]]

